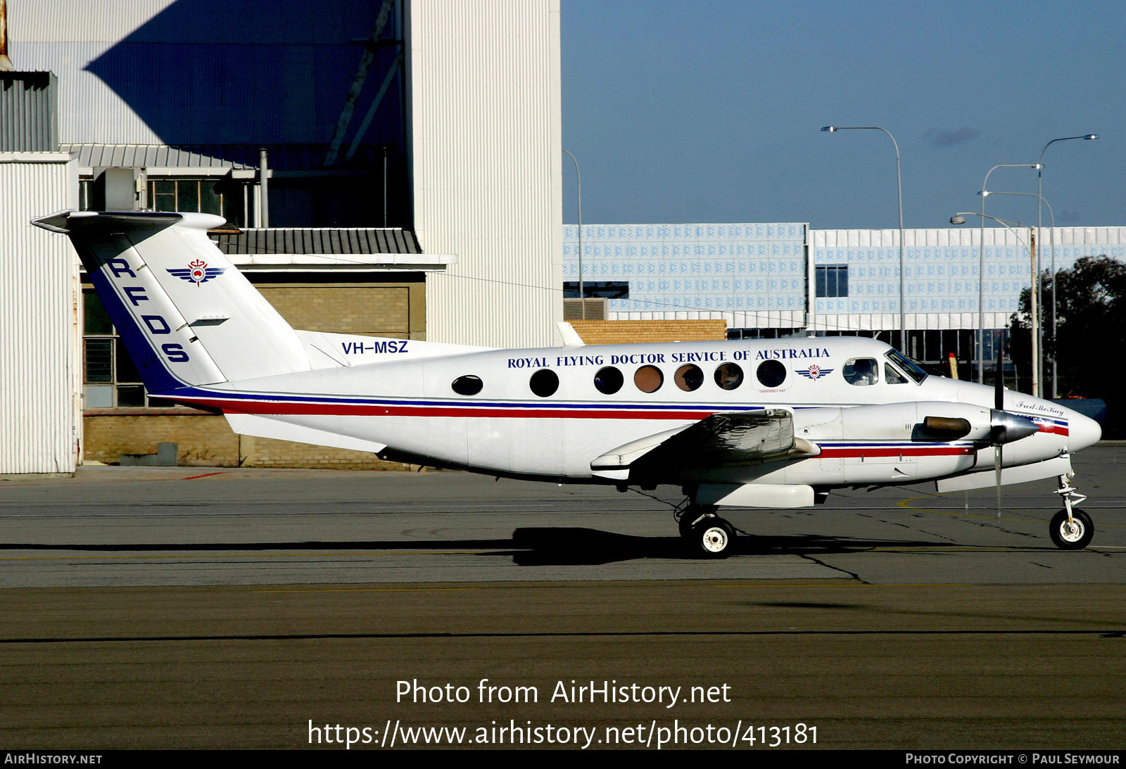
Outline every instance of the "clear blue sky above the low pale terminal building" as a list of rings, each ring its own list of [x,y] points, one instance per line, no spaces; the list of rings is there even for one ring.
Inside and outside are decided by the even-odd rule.
[[[583,223],[908,227],[1035,163],[1060,226],[1126,225],[1126,5],[562,0],[563,146]],[[564,155],[564,222],[575,221]],[[999,169],[993,190],[1035,193]],[[986,213],[1036,222],[1036,200]],[[976,226],[972,218],[969,226]],[[1045,225],[1047,212],[1045,209]]]

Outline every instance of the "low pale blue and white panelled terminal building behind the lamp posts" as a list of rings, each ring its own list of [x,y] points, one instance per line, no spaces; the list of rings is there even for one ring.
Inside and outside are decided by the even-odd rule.
[[[722,320],[731,339],[878,337],[933,366],[969,373],[984,329],[994,360],[1031,283],[1035,229],[905,230],[900,333],[899,230],[777,224],[591,224],[564,227],[563,279],[574,315],[607,321]],[[1126,227],[1044,227],[1040,270],[1081,257],[1126,261]],[[581,241],[581,244],[580,244]],[[579,297],[582,250],[584,305]],[[984,265],[984,271],[981,266]],[[978,276],[983,276],[978,285]],[[978,289],[982,303],[978,304]],[[981,310],[981,312],[980,312]],[[1017,372],[1028,377],[1028,372]],[[1027,390],[1027,381],[1026,381]]]

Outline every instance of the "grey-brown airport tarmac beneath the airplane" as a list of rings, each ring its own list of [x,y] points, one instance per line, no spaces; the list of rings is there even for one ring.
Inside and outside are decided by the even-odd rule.
[[[669,489],[0,480],[0,744],[343,749],[352,727],[354,750],[1120,750],[1123,462],[1109,444],[1076,457],[1084,552],[1047,539],[1045,481],[1006,489],[1000,519],[992,490],[967,509],[924,486],[757,512],[722,562],[680,547]],[[431,726],[468,731],[405,731]]]

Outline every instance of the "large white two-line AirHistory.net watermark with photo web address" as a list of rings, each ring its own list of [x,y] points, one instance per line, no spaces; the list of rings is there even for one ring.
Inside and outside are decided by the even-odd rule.
[[[717,704],[731,701],[731,686],[651,686],[622,683],[617,680],[578,681],[560,680],[549,691],[535,686],[498,686],[484,678],[475,686],[454,683],[426,685],[418,679],[395,683],[395,703],[405,705],[429,704],[598,704],[658,705],[671,709],[677,705]],[[756,724],[735,719],[730,724],[690,724],[680,718],[669,722],[651,719],[626,726],[574,726],[527,718],[490,721],[488,724],[458,726],[427,726],[403,724],[387,719],[382,726],[349,726],[318,724],[309,721],[310,744],[393,748],[395,745],[465,744],[465,745],[573,745],[586,750],[592,745],[637,745],[656,748],[665,745],[715,744],[731,748],[780,748],[785,745],[813,745],[817,742],[817,727],[804,723],[785,725]]]

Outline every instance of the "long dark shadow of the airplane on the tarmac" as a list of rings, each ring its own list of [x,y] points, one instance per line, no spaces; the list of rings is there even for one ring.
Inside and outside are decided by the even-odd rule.
[[[935,542],[868,539],[858,537],[788,535],[739,536],[732,555],[829,555],[856,553],[876,547],[933,549]],[[963,545],[949,545],[962,547]],[[638,558],[695,561],[700,556],[680,537],[643,537],[590,528],[527,527],[508,539],[409,539],[409,540],[305,540],[243,543],[118,543],[118,544],[24,544],[0,543],[0,549],[86,553],[198,553],[238,551],[486,551],[484,557],[511,557],[518,566],[599,565]]]

